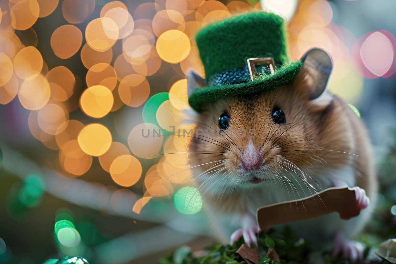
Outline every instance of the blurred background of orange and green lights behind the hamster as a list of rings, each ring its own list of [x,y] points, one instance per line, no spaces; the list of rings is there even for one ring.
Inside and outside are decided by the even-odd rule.
[[[196,30],[261,9],[286,19],[292,59],[331,54],[328,87],[380,163],[396,121],[394,0],[0,0],[0,263],[155,263],[211,243],[188,140],[142,129],[191,126]]]

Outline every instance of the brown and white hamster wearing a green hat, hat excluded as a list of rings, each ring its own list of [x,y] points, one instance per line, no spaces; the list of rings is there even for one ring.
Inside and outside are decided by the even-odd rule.
[[[293,82],[214,101],[197,114],[197,130],[224,131],[193,137],[189,161],[194,180],[215,236],[223,243],[243,236],[247,245],[257,243],[261,231],[259,207],[329,187],[355,187],[362,209],[358,217],[343,220],[331,213],[289,223],[308,241],[333,242],[333,256],[355,261],[363,248],[350,239],[369,219],[377,193],[369,136],[348,103],[326,90],[329,55],[312,49],[301,61]],[[187,80],[189,92],[204,86],[196,74]]]

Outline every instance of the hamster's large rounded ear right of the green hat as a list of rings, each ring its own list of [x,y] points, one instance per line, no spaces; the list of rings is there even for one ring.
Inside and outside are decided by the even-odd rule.
[[[323,49],[312,48],[301,57],[303,66],[297,76],[297,80],[305,82],[309,87],[308,99],[318,98],[326,90],[333,63],[329,54]]]

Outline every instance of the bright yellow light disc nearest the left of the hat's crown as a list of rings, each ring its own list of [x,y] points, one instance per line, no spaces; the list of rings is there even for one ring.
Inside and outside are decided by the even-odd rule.
[[[187,35],[179,30],[168,30],[158,37],[156,43],[158,56],[169,63],[183,61],[191,50]]]

